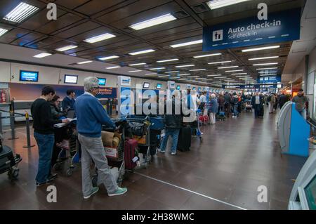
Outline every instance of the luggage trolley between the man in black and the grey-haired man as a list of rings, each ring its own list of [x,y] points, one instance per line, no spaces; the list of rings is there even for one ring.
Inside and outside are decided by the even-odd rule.
[[[74,126],[67,125],[67,126],[55,126],[55,129],[67,128],[72,131],[72,135],[68,139],[63,139],[60,143],[56,143],[56,147],[60,148],[60,152],[58,154],[58,159],[54,164],[53,168],[55,171],[60,171],[62,169],[62,164],[70,160],[70,166],[67,169],[67,176],[72,176],[74,172],[74,168],[76,168],[75,164],[79,164],[80,162],[80,143],[78,140],[77,130]]]

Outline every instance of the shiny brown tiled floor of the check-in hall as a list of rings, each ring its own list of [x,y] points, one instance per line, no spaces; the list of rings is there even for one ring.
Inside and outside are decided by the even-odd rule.
[[[148,169],[129,173],[123,185],[126,195],[107,197],[101,187],[84,200],[80,168],[67,177],[59,172],[54,185],[58,202],[46,201],[46,187],[36,187],[37,147],[22,148],[24,129],[18,140],[5,144],[21,154],[20,178],[11,183],[0,176],[0,209],[287,209],[291,187],[305,158],[280,154],[276,114],[254,119],[243,112],[237,119],[203,126],[204,141],[192,138],[190,152],[158,154]],[[35,143],[32,138],[32,142]],[[257,201],[258,186],[268,188],[268,202]]]

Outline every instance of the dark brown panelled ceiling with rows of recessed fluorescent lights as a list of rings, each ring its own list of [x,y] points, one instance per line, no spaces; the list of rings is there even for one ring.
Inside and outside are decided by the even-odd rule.
[[[58,6],[57,20],[46,5]],[[192,81],[212,86],[255,81],[261,74],[282,74],[291,42],[202,51],[202,27],[268,11],[303,7],[303,0],[252,0],[211,10],[200,0],[25,0],[25,16],[12,11],[18,0],[0,1],[0,43],[80,58],[69,65],[104,62],[104,72],[129,68],[136,77]],[[24,10],[27,10],[25,6]],[[27,14],[28,13],[28,14]],[[11,20],[10,20],[11,19]],[[249,48],[271,47],[258,51]],[[50,55],[51,54],[51,55]],[[81,64],[80,64],[81,63]]]

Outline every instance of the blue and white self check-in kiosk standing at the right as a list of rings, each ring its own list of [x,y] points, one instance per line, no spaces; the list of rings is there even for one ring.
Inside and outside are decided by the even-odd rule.
[[[279,112],[277,131],[282,153],[308,157],[310,125],[295,109],[295,103],[287,102]]]

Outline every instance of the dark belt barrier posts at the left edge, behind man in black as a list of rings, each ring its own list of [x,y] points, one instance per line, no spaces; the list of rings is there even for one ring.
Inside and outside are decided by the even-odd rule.
[[[8,114],[10,114],[9,116],[4,116],[2,117],[2,112],[6,112]],[[34,147],[35,145],[31,145],[31,136],[30,136],[30,131],[29,131],[29,114],[26,112],[25,114],[21,114],[21,113],[16,113],[13,112],[13,110],[11,111],[6,111],[6,110],[0,110],[0,133],[4,133],[2,131],[2,119],[10,119],[10,126],[11,126],[11,138],[8,138],[8,140],[15,140],[18,139],[18,137],[15,136],[15,118],[16,117],[25,117],[25,126],[26,126],[26,134],[27,134],[27,145],[23,146],[23,147]]]

